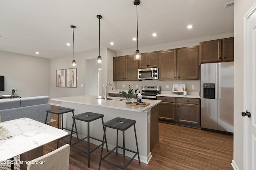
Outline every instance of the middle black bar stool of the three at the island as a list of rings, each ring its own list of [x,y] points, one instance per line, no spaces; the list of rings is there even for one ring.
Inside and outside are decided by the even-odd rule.
[[[104,117],[104,115],[102,115],[102,114],[92,113],[92,112],[81,113],[81,114],[79,114],[79,115],[73,116],[73,125],[72,125],[71,131],[73,130],[74,125],[76,125],[76,119],[77,119],[77,120],[80,120],[80,121],[86,121],[86,122],[87,122],[87,137],[84,137],[83,139],[80,139],[79,141],[76,141],[75,143],[71,144],[71,140],[72,140],[72,135],[71,135],[71,136],[70,136],[70,143],[69,143],[69,145],[70,145],[70,147],[74,147],[74,148],[76,148],[76,149],[78,149],[78,150],[80,150],[80,151],[85,152],[85,153],[88,154],[88,168],[90,167],[90,153],[91,153],[91,152],[93,152],[94,150],[98,149],[100,146],[103,147],[104,143],[106,143],[106,147],[107,147],[107,151],[108,151],[108,144],[107,144],[106,138],[105,138],[105,141],[102,141],[102,140],[100,140],[100,139],[96,139],[96,138],[94,138],[94,137],[90,137],[90,122],[91,122],[91,121],[94,121],[94,120],[96,120],[96,119],[101,118],[101,120],[102,120],[102,126],[103,126],[103,123],[104,123],[104,122],[103,122],[103,117]],[[86,139],[86,138],[87,138],[87,147],[88,147],[87,150],[82,150],[82,149],[80,149],[80,148],[74,146],[75,144],[77,144],[77,143],[83,141],[83,140]],[[100,145],[98,145],[97,147],[95,147],[94,149],[90,150],[90,138],[95,139],[95,140],[97,140],[97,141],[100,141],[100,142],[102,142],[102,144],[100,144]]]

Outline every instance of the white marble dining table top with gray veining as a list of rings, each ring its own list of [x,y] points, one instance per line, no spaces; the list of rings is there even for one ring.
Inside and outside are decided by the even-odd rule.
[[[0,161],[68,135],[66,131],[29,118],[4,121],[0,126],[6,127],[12,135],[8,139],[0,139]]]

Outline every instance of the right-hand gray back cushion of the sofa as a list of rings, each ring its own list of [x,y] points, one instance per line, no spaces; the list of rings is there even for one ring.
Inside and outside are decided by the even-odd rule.
[[[20,107],[34,106],[38,104],[47,104],[48,102],[49,102],[49,96],[20,98]]]

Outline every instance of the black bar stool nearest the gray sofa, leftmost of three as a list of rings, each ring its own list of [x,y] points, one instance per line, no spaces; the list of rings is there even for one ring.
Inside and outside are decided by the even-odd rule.
[[[66,129],[66,128],[63,127],[63,115],[62,114],[68,113],[68,112],[71,112],[71,111],[72,111],[73,116],[74,116],[74,111],[75,111],[74,109],[70,109],[70,108],[66,108],[66,107],[59,107],[59,108],[55,108],[55,109],[48,109],[48,110],[46,110],[46,118],[45,118],[45,122],[44,123],[46,124],[48,113],[53,113],[53,114],[58,115],[57,128],[58,129],[62,129],[62,130]],[[59,127],[60,115],[61,115],[61,127]],[[76,124],[75,124],[75,128],[76,128]],[[78,139],[77,129],[76,129],[76,131],[73,131],[73,128],[72,128],[72,130],[70,130],[70,129],[66,129],[66,130],[70,131],[71,133],[66,135],[66,136],[64,136],[64,137],[67,137],[69,135],[72,136],[74,133],[76,133],[77,140],[79,140]],[[57,149],[59,147],[59,140],[63,139],[64,137],[61,137],[61,138],[57,139]]]

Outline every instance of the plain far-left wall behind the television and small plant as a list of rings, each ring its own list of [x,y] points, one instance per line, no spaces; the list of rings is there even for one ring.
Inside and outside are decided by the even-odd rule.
[[[0,75],[5,76],[5,92],[18,89],[18,96],[50,96],[50,59],[0,51]]]

